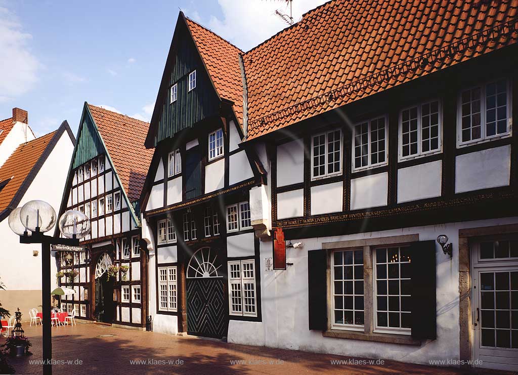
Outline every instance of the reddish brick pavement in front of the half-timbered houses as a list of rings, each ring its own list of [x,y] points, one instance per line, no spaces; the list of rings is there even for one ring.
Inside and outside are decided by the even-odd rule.
[[[17,374],[42,373],[41,326],[23,325],[32,343],[29,357],[10,358]],[[100,335],[114,335],[99,337]],[[350,364],[366,358],[308,353],[294,350],[250,347],[195,337],[169,336],[153,332],[114,328],[97,324],[52,327],[54,374],[463,374],[455,368],[439,368],[385,360],[383,364]],[[4,342],[0,339],[0,344]],[[131,361],[143,361],[132,364]],[[333,364],[343,360],[346,364]],[[68,363],[68,361],[70,361]],[[159,362],[163,361],[163,362]],[[479,373],[505,372],[487,370]]]

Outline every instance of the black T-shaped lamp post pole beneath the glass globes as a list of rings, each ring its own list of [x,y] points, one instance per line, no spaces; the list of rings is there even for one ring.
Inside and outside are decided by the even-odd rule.
[[[52,374],[52,330],[50,325],[50,246],[78,246],[77,238],[58,238],[45,236],[36,228],[31,236],[25,232],[20,243],[41,243],[41,302],[43,315],[43,373]]]

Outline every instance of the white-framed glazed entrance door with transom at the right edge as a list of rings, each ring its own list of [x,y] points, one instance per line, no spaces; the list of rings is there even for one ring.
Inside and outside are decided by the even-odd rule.
[[[472,252],[474,365],[518,371],[518,241],[482,241]]]

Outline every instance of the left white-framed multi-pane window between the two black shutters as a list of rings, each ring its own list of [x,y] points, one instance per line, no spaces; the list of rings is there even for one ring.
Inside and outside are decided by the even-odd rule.
[[[363,330],[363,250],[335,251],[332,257],[333,327]]]

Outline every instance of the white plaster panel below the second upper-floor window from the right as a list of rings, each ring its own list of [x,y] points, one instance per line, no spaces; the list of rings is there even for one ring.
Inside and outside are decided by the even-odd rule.
[[[441,195],[442,161],[397,170],[397,202],[434,198]]]

